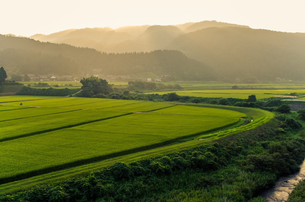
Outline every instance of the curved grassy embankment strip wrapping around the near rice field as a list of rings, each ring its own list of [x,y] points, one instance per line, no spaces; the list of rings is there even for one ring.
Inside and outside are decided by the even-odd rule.
[[[238,129],[229,129],[224,131],[219,131],[217,133],[210,133],[205,134],[203,136],[198,136],[195,139],[199,138],[207,138],[206,140],[193,140],[193,141],[186,141],[186,142],[175,142],[171,145],[165,145],[161,146],[159,148],[153,148],[141,152],[135,152],[133,154],[127,154],[123,156],[117,156],[115,158],[110,159],[104,159],[95,163],[85,164],[85,165],[79,165],[39,176],[34,176],[31,178],[6,183],[0,185],[0,194],[4,193],[13,193],[16,191],[29,189],[36,185],[41,184],[50,184],[57,181],[65,180],[65,179],[71,179],[74,177],[82,177],[89,175],[92,171],[102,169],[105,166],[112,165],[116,161],[121,162],[132,162],[136,160],[140,160],[143,158],[150,158],[152,156],[157,156],[164,153],[170,153],[174,152],[180,149],[189,148],[198,146],[200,144],[208,144],[211,142],[211,140],[216,140],[219,138],[224,138],[226,136],[230,136],[236,133],[240,133],[242,131],[247,131],[250,129],[253,129],[257,126],[260,126],[264,123],[267,123],[269,120],[274,117],[274,114],[271,112],[267,112],[260,109],[253,109],[253,108],[244,108],[244,107],[230,107],[230,106],[218,106],[218,105],[200,105],[200,104],[191,104],[191,106],[201,106],[201,107],[211,107],[211,108],[219,108],[219,109],[227,109],[227,110],[233,110],[241,113],[246,113],[248,117],[253,118],[253,122],[250,124],[247,124],[245,126],[239,127]],[[217,138],[213,138],[213,135]]]

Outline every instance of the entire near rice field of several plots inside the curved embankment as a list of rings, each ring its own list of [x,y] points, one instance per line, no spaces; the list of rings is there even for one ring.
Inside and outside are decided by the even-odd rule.
[[[30,100],[23,105],[39,107],[0,106],[0,183],[154,148],[246,117],[222,109],[98,98]]]

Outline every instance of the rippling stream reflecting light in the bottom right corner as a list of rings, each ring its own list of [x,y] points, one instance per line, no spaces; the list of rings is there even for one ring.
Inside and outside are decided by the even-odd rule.
[[[282,176],[277,179],[274,186],[260,194],[267,202],[285,201],[288,199],[289,193],[292,192],[294,184],[305,178],[305,160],[300,165],[299,172],[288,176]]]

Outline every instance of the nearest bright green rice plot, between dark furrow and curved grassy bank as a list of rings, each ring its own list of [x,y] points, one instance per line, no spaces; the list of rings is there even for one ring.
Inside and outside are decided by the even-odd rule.
[[[9,166],[2,167],[0,179],[135,152],[237,121],[239,118],[138,113],[5,141],[0,161]]]

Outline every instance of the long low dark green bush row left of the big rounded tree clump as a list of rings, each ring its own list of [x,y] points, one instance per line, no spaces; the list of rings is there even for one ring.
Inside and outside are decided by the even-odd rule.
[[[20,91],[16,93],[19,96],[68,96],[70,94],[74,94],[80,89],[54,89],[54,88],[30,88],[27,86],[23,86]]]

